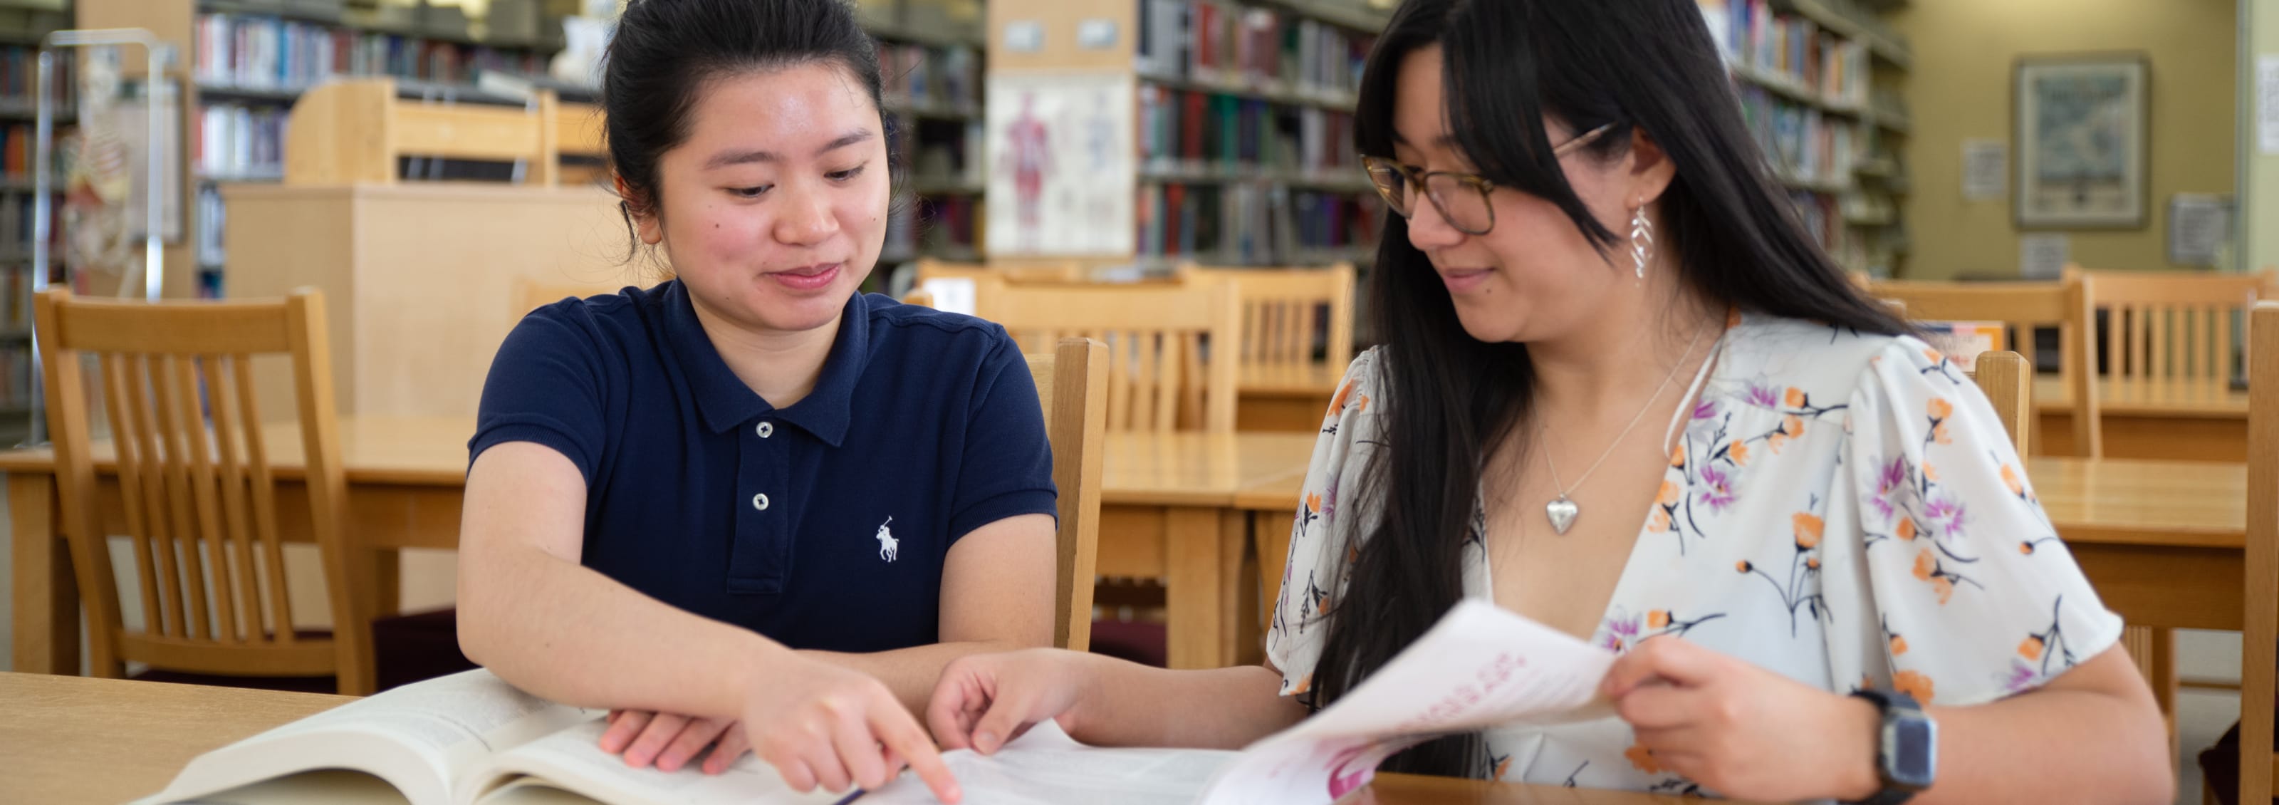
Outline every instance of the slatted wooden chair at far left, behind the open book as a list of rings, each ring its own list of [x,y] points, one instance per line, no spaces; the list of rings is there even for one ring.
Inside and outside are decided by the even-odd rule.
[[[139,303],[34,299],[62,527],[87,607],[93,675],[123,664],[228,675],[335,675],[371,693],[374,591],[346,520],[324,294],[278,301]],[[253,401],[255,353],[287,353],[305,452],[308,515],[324,556],[333,634],[294,634],[285,554]],[[125,632],[98,513],[82,356],[96,358],[119,463],[144,629]]]

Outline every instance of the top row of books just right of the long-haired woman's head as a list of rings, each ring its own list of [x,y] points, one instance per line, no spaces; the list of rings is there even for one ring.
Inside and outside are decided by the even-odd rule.
[[[1819,96],[1830,105],[1867,105],[1864,41],[1830,34],[1803,16],[1773,14],[1766,0],[1700,0],[1700,9],[1725,64],[1737,71]]]

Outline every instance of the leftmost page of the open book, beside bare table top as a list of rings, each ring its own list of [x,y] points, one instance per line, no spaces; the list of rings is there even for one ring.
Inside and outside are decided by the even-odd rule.
[[[492,753],[599,716],[599,709],[522,693],[476,668],[376,693],[198,755],[144,803],[180,803],[312,769],[356,769],[387,780],[412,805],[449,805],[451,780]]]

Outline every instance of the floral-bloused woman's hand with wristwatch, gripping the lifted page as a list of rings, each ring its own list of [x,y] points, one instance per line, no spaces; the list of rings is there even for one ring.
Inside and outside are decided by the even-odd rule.
[[[1600,693],[1671,773],[1743,800],[1873,796],[1882,716],[1734,657],[1661,636],[1614,661]]]

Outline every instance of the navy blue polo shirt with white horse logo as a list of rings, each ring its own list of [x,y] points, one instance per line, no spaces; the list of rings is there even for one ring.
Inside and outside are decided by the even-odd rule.
[[[504,442],[586,474],[588,568],[791,648],[934,643],[950,545],[1055,513],[1005,328],[875,294],[789,408],[729,372],[679,280],[538,308],[490,365],[469,461]]]

